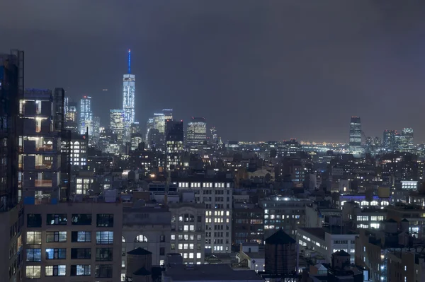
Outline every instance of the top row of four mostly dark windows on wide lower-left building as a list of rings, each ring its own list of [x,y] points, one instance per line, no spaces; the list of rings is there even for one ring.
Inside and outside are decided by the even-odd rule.
[[[72,225],[91,225],[91,213],[75,213],[71,216]],[[47,225],[67,225],[66,213],[49,213],[46,216]],[[42,216],[40,213],[30,213],[27,215],[27,227],[40,228],[42,225]],[[113,214],[100,213],[96,215],[97,227],[113,227]]]

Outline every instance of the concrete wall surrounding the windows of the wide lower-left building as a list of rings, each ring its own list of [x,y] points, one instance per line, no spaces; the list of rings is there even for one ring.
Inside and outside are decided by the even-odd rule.
[[[40,215],[41,221],[38,227],[31,227],[33,221],[28,220],[33,218],[33,215]],[[47,225],[47,215],[51,214],[64,214],[66,215],[67,221],[60,225]],[[72,215],[75,214],[89,214],[92,216],[91,224],[87,225],[76,225],[73,224]],[[108,214],[113,216],[113,226],[98,226],[97,216],[100,214]],[[111,223],[109,223],[111,225]],[[23,281],[34,281],[30,278],[31,274],[40,276],[42,281],[120,281],[120,270],[121,270],[121,229],[123,225],[122,220],[122,205],[119,203],[94,203],[94,202],[83,202],[83,203],[60,203],[56,205],[28,205],[25,208],[25,230],[23,236],[23,245],[26,252],[23,254],[24,266],[26,269],[26,275],[24,274]],[[52,233],[53,232],[53,233]],[[54,232],[63,232],[60,236],[55,235]],[[74,233],[73,232],[77,232]],[[78,232],[91,232],[86,234],[86,240],[90,242],[73,242],[75,241],[75,235]],[[111,233],[106,233],[111,232]],[[51,234],[52,233],[52,234]],[[104,236],[106,234],[106,237]],[[81,233],[80,233],[81,235]],[[112,238],[110,237],[112,235]],[[66,239],[64,239],[66,236]],[[84,237],[84,235],[82,236]],[[48,240],[59,241],[59,238],[63,242],[47,242]],[[81,236],[77,236],[81,239]],[[106,238],[106,239],[105,239]],[[80,240],[81,241],[81,240]],[[91,252],[86,259],[73,259],[72,249],[88,249],[86,252]],[[96,252],[100,252],[101,249],[112,249],[111,260],[103,261],[105,257],[96,256]],[[33,250],[35,249],[35,250]],[[40,249],[40,261],[33,259],[33,254],[38,253]],[[64,259],[58,257],[58,259],[47,259],[46,249],[66,249],[66,251],[55,251],[50,253],[55,257],[60,254],[64,255]],[[88,253],[86,253],[88,254]],[[100,254],[100,253],[99,253]],[[35,260],[33,262],[33,260]],[[84,265],[87,269],[86,274],[88,276],[71,276],[72,269],[79,265]],[[108,265],[108,266],[105,266]],[[64,276],[46,276],[46,266],[64,266],[66,269]],[[96,271],[98,267],[107,268],[110,267],[111,272]],[[35,268],[35,269],[33,269]],[[82,269],[79,267],[79,269]],[[79,269],[77,271],[79,271]],[[79,272],[80,273],[80,272]],[[96,273],[103,275],[111,274],[109,278],[98,278]]]

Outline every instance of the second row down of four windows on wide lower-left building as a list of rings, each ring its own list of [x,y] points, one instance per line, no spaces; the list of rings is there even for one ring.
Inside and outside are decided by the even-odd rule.
[[[26,244],[40,245],[41,231],[27,231]],[[67,242],[67,231],[47,231],[46,242]],[[72,231],[71,242],[91,242],[91,231]],[[97,231],[96,244],[113,244],[113,231]]]

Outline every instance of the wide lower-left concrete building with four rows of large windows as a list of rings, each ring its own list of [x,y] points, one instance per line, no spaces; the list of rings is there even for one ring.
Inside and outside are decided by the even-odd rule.
[[[119,281],[122,208],[115,196],[27,205],[23,281]]]

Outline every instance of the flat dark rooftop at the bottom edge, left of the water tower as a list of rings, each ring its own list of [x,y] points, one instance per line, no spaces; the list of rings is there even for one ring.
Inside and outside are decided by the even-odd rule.
[[[233,270],[227,264],[173,265],[162,275],[171,281],[264,281],[253,270]]]

